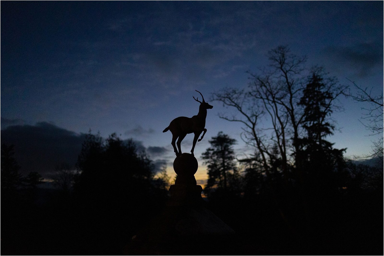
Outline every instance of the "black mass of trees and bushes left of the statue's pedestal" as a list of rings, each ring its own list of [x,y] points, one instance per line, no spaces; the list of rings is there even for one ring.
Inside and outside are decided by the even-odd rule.
[[[58,190],[20,187],[36,187],[40,175],[22,178],[12,147],[2,149],[2,190],[7,181],[4,188],[14,192],[12,200],[2,193],[9,199],[2,200],[2,254],[120,254],[167,199],[151,160],[116,134],[86,135],[78,174],[68,165],[56,169]]]

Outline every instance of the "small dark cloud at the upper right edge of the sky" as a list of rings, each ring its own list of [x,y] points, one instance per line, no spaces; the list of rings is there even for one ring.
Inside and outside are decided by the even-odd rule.
[[[330,46],[325,49],[331,58],[356,69],[359,77],[369,76],[383,62],[383,46],[378,43],[359,43],[353,46]]]

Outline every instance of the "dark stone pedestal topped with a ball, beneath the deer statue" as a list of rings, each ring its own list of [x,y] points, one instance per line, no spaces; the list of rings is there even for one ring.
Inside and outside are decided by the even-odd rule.
[[[207,255],[217,254],[219,246],[225,248],[235,232],[204,207],[202,187],[196,185],[194,177],[197,167],[191,154],[175,159],[177,178],[169,188],[170,200],[165,210],[132,238],[127,254]]]

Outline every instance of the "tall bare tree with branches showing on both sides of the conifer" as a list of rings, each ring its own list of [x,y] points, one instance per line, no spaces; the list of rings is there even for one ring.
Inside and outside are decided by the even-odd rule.
[[[268,52],[270,64],[257,74],[248,72],[252,79],[248,89],[223,89],[213,94],[213,99],[224,106],[234,108],[238,115],[219,116],[228,121],[241,122],[244,127],[245,142],[260,152],[263,166],[268,174],[268,158],[272,145],[277,145],[281,155],[281,170],[287,178],[288,166],[295,166],[300,172],[301,138],[306,112],[298,103],[313,73],[324,76],[326,90],[331,95],[329,113],[335,106],[334,100],[344,93],[346,86],[338,84],[337,79],[328,77],[321,68],[305,67],[306,57],[291,54],[287,46],[279,46]],[[326,76],[326,77],[325,77]],[[332,104],[331,104],[332,103]],[[262,119],[268,122],[262,122]],[[267,131],[271,130],[271,134]],[[270,140],[268,140],[270,135]]]

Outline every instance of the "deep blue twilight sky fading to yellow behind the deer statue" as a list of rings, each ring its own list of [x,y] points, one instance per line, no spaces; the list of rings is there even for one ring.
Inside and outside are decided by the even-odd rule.
[[[247,86],[245,71],[265,66],[266,53],[279,45],[342,84],[351,85],[348,78],[382,93],[382,1],[2,1],[1,139],[24,145],[19,156],[34,152],[22,167],[38,166],[43,157],[36,155],[52,159],[53,148],[79,150],[89,129],[133,138],[152,160],[171,165],[172,135],[162,130],[175,117],[197,114],[194,90],[208,101],[223,87]],[[346,156],[368,153],[375,138],[359,122],[364,106],[340,99],[345,110],[333,119],[341,132],[328,140],[347,147]],[[208,131],[195,149],[198,180],[206,177],[201,153],[219,131],[238,140],[239,157],[251,152],[240,124],[218,117],[230,110],[209,103]],[[183,152],[192,139],[185,137]]]

